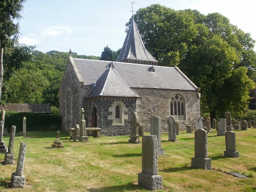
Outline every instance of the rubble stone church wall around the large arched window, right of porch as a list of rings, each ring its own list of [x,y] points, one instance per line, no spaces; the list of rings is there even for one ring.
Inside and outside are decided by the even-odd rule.
[[[176,94],[183,96],[185,100],[186,119],[175,119],[180,122],[180,129],[185,129],[186,124],[190,124],[196,129],[197,121],[200,117],[200,98],[198,97],[198,92],[138,88],[133,88],[133,91],[141,97],[137,100],[137,112],[145,132],[150,132],[151,117],[153,116],[161,118],[162,132],[168,132],[167,122],[170,116],[170,101]]]

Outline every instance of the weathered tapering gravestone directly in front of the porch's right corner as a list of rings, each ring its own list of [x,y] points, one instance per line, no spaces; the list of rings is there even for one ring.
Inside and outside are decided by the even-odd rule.
[[[139,117],[136,112],[132,113],[131,136],[129,143],[141,143],[139,136]]]

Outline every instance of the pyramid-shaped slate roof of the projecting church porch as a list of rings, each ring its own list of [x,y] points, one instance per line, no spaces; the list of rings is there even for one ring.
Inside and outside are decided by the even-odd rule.
[[[109,63],[104,73],[94,83],[94,88],[87,98],[98,96],[111,97],[140,97],[116,72],[113,62]]]

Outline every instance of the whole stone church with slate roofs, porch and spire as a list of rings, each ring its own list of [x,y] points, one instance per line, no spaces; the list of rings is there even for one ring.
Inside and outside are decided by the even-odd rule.
[[[73,58],[70,54],[59,90],[62,129],[79,124],[81,108],[87,127],[100,127],[106,136],[128,135],[137,112],[144,132],[151,117],[161,118],[168,131],[172,115],[181,127],[197,127],[200,88],[177,67],[158,66],[146,50],[132,18],[116,61]]]

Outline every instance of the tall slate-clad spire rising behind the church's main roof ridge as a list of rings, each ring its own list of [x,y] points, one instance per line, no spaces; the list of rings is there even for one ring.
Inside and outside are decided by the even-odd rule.
[[[116,61],[118,62],[139,61],[138,63],[151,62],[147,64],[157,65],[158,61],[148,52],[143,44],[139,30],[132,17],[131,26],[123,43],[122,50]]]

